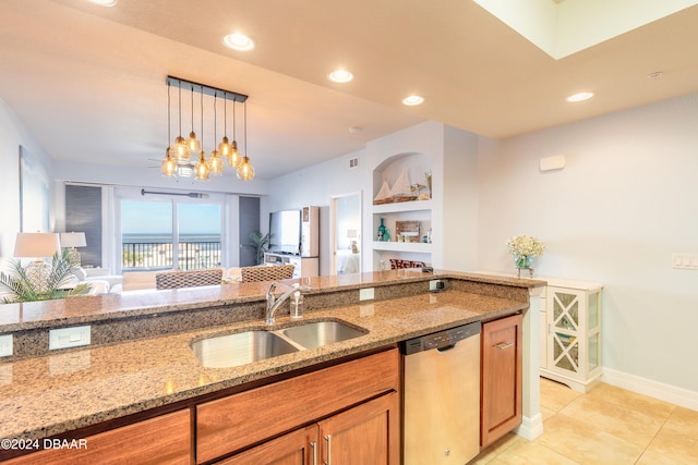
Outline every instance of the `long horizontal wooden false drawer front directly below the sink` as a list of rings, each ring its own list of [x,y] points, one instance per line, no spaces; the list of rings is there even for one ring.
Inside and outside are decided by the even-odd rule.
[[[196,406],[196,461],[290,431],[399,387],[396,348]]]

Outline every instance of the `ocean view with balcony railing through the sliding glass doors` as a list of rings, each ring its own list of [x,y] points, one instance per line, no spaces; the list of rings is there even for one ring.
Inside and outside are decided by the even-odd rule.
[[[219,267],[220,227],[219,205],[122,200],[122,270]]]

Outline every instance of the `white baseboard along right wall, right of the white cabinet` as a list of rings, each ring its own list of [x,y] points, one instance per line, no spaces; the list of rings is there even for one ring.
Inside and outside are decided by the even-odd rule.
[[[603,367],[601,381],[627,389],[638,394],[649,395],[660,401],[671,402],[682,407],[698,411],[698,392],[641,378],[613,368]]]

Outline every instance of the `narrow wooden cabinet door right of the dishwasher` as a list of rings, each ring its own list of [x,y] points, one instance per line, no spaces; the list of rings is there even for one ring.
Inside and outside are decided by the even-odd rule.
[[[480,445],[486,446],[521,423],[522,316],[482,326]]]

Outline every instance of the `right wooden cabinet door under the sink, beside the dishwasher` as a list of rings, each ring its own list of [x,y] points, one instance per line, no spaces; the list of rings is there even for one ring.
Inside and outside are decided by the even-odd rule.
[[[399,396],[396,392],[320,424],[321,462],[327,465],[398,465]]]

